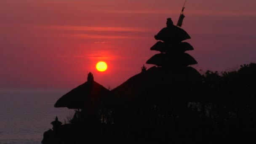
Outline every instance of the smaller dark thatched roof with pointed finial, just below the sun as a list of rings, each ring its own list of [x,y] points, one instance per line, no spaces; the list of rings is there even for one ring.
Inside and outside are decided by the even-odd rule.
[[[101,103],[101,99],[108,94],[109,90],[95,82],[90,72],[87,82],[61,96],[54,107],[67,107],[69,109],[95,108]]]

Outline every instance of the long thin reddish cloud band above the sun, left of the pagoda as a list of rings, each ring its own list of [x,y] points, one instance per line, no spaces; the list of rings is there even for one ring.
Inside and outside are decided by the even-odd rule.
[[[145,34],[154,29],[145,27],[80,27],[80,26],[51,26],[38,25],[35,29],[47,30],[48,35],[54,37],[89,38],[98,39],[93,43],[105,44],[105,40],[99,39],[148,39]]]

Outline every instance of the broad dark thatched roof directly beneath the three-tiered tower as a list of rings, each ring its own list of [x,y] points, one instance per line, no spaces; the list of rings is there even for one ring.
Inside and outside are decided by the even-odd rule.
[[[202,75],[192,67],[173,69],[151,67],[146,72],[141,72],[129,78],[113,89],[111,93],[119,104],[128,102],[142,104],[141,101],[144,101],[143,103],[145,101],[167,102],[170,99],[189,98],[193,92],[201,88],[201,84]],[[190,98],[197,99],[195,97]]]

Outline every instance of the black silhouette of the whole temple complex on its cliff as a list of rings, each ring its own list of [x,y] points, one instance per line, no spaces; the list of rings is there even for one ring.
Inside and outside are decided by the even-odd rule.
[[[65,124],[56,117],[51,123],[53,129],[44,133],[42,144],[241,142],[236,136],[241,136],[243,142],[251,140],[247,138],[255,129],[245,131],[240,122],[255,127],[255,114],[250,113],[254,117],[251,121],[237,119],[240,111],[236,110],[245,105],[236,106],[232,101],[237,99],[228,99],[231,90],[221,84],[233,83],[227,81],[229,74],[223,79],[226,81],[221,81],[216,72],[201,75],[190,67],[197,64],[186,53],[194,50],[184,42],[190,38],[168,18],[166,27],[155,35],[158,41],[150,48],[160,53],[146,62],[155,66],[147,69],[143,65],[139,74],[111,91],[95,82],[90,72],[85,83],[56,101],[54,107],[75,109],[75,114]]]

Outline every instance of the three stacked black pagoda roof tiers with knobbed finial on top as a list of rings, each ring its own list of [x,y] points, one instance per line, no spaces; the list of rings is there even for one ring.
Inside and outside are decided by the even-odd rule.
[[[194,48],[183,40],[190,39],[184,29],[173,25],[171,18],[167,19],[166,27],[155,35],[155,43],[150,50],[161,53],[152,56],[146,63],[155,64],[158,67],[187,67],[197,64],[197,61],[185,51],[192,51]]]

